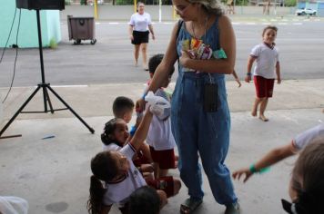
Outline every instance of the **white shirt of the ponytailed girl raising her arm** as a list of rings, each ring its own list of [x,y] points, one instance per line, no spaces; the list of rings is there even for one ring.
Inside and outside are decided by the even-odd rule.
[[[132,157],[136,150],[127,143],[120,151],[129,161],[130,168],[127,172],[127,178],[117,183],[106,183],[106,193],[103,203],[107,206],[117,204],[118,207],[123,207],[127,202],[129,195],[140,187],[146,186],[147,183],[143,179],[142,174],[137,170],[132,161]],[[108,167],[108,166],[107,166]]]

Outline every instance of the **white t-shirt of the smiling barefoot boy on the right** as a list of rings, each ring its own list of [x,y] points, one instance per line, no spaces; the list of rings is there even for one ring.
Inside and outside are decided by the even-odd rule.
[[[266,79],[276,78],[276,63],[279,60],[278,49],[275,46],[271,49],[267,44],[257,44],[253,47],[250,55],[257,58],[253,75],[262,76]]]

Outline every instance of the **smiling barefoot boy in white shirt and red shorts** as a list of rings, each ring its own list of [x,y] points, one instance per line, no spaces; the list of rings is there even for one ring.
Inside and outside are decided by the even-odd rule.
[[[253,104],[251,114],[253,117],[257,116],[259,104],[260,111],[258,118],[263,122],[268,122],[268,118],[264,115],[264,112],[267,108],[268,98],[272,97],[273,94],[276,74],[277,83],[281,83],[278,49],[275,46],[277,32],[278,28],[276,26],[268,25],[265,27],[262,32],[263,43],[254,46],[248,57],[248,72],[245,78],[245,82],[247,83],[251,81],[252,65],[257,61],[253,72],[257,97]]]

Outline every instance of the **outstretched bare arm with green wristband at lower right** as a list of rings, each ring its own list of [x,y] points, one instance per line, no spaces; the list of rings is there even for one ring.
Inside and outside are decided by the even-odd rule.
[[[262,169],[265,169],[280,160],[284,160],[289,156],[295,154],[296,149],[293,146],[293,143],[290,142],[289,144],[278,147],[269,151],[261,160],[258,160],[257,163],[252,164],[249,168],[242,168],[240,170],[236,170],[232,173],[234,179],[240,179],[242,175],[245,175],[243,182],[246,182],[255,172],[259,172]]]

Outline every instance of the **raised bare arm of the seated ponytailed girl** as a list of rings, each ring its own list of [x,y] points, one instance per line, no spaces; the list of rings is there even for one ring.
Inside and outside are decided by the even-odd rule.
[[[138,150],[142,143],[147,139],[147,132],[149,125],[151,124],[153,114],[150,111],[147,111],[143,117],[142,122],[139,124],[137,131],[134,134],[134,137],[130,140],[132,146]]]

